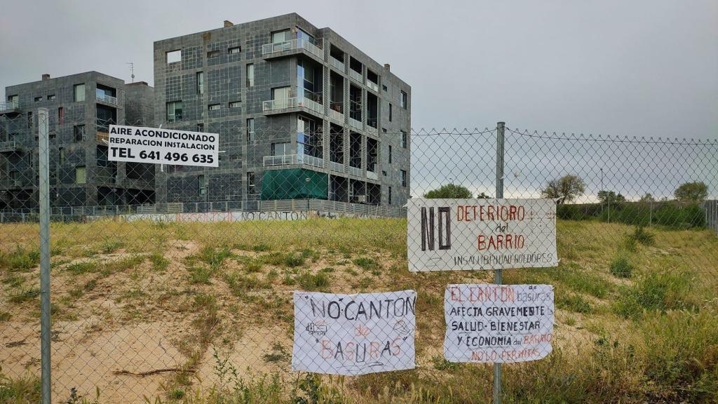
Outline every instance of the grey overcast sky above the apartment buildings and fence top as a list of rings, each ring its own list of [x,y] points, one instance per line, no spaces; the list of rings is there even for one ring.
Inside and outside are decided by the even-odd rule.
[[[411,85],[412,127],[718,137],[718,1],[3,0],[0,87],[152,83],[152,42],[297,12]]]

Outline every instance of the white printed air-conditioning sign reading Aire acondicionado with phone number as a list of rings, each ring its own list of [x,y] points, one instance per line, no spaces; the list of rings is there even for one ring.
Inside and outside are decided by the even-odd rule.
[[[219,167],[219,135],[110,125],[108,160]]]

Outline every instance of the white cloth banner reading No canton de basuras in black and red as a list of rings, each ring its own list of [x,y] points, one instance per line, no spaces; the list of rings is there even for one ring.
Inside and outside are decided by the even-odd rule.
[[[414,369],[416,292],[294,292],[292,370],[365,375]]]

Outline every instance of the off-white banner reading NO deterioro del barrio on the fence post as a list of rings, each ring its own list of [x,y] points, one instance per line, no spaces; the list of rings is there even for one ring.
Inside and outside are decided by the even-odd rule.
[[[410,271],[555,267],[552,199],[409,199]]]

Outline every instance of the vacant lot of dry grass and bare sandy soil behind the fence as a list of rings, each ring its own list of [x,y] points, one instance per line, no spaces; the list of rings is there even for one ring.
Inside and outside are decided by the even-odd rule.
[[[37,226],[0,226],[0,402],[37,402],[37,243]],[[554,285],[559,309],[554,352],[504,367],[505,403],[718,401],[714,234],[559,221],[558,246],[559,267],[505,271]],[[485,403],[490,365],[442,359],[442,296],[491,280],[410,273],[401,219],[52,224],[54,400]],[[292,290],[405,288],[416,369],[290,372]]]

